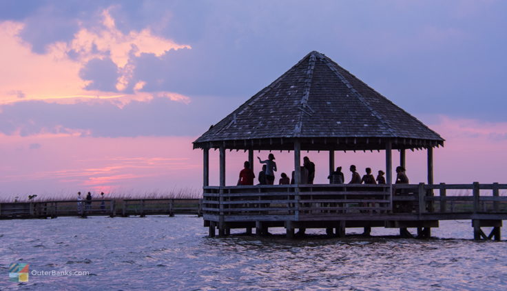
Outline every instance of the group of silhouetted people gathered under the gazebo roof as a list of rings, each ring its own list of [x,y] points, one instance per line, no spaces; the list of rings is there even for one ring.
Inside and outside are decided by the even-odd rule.
[[[262,161],[260,157],[257,157],[260,163],[262,163],[262,170],[258,174],[259,185],[273,185],[275,181],[275,172],[277,170],[275,163],[274,154],[269,154],[268,159]],[[377,177],[375,178],[371,174],[371,168],[366,168],[366,174],[363,177],[357,172],[355,165],[351,165],[350,171],[352,172],[351,181],[349,184],[385,184],[386,178],[384,177],[385,172],[379,170]],[[289,179],[287,174],[284,172],[280,175],[281,178],[278,181],[279,185],[287,185],[294,183],[294,171],[292,171],[292,178]],[[254,179],[256,175],[251,170],[249,161],[245,161],[244,168],[240,172],[238,185],[254,185]],[[315,163],[310,161],[309,157],[303,158],[303,165],[300,166],[300,183],[301,184],[313,184],[315,178]],[[344,174],[342,167],[336,168],[335,171],[329,174],[329,183],[331,184],[343,184],[345,183]],[[396,182],[397,184],[408,184],[408,177],[406,177],[405,168],[402,166],[396,167]]]

